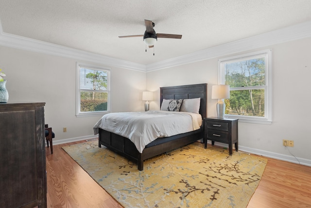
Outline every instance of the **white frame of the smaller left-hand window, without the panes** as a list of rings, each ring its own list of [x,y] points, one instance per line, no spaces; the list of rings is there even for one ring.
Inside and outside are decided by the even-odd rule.
[[[87,90],[89,92],[106,92],[108,94],[108,100],[107,100],[107,111],[95,111],[95,112],[81,112],[81,89],[80,89],[80,68],[85,67],[93,70],[99,70],[99,71],[104,71],[107,72],[107,89],[106,90]],[[81,62],[76,62],[76,116],[77,117],[85,117],[85,116],[100,116],[104,115],[106,113],[111,112],[111,106],[110,106],[110,97],[111,97],[111,91],[110,91],[110,68],[109,67],[104,67],[104,66],[99,66],[99,65],[94,65],[94,64],[89,64],[89,63],[81,63]],[[86,91],[84,89],[84,91]]]

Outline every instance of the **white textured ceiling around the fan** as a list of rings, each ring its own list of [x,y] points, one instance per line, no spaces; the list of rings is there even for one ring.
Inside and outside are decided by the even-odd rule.
[[[157,33],[155,51],[142,37]],[[311,0],[0,0],[4,33],[151,64],[311,20]],[[155,56],[153,53],[155,52]]]

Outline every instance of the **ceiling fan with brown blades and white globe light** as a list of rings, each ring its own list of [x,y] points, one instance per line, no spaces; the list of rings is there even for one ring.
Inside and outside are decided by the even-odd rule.
[[[144,42],[149,48],[153,48],[157,38],[176,38],[181,39],[182,35],[165,34],[165,33],[155,33],[154,26],[155,23],[145,19],[146,31],[144,35],[134,35],[134,36],[119,36],[119,38],[132,38],[132,37],[143,37]],[[147,50],[146,50],[147,51]]]

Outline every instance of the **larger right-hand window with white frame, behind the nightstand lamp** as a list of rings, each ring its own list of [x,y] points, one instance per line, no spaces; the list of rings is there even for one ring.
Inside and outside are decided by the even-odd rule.
[[[220,84],[230,85],[227,117],[271,124],[271,50],[218,61]]]

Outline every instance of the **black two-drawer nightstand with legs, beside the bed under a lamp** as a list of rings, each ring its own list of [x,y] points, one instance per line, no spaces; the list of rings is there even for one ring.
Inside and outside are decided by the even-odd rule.
[[[236,118],[204,118],[204,148],[207,148],[207,140],[229,144],[229,154],[232,154],[232,146],[238,149],[238,120]]]

